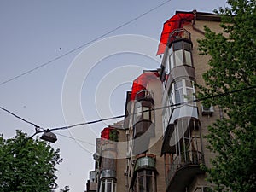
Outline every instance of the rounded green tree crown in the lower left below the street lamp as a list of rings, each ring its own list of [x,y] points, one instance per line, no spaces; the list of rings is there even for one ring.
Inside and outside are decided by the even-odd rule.
[[[59,149],[49,143],[26,137],[0,136],[0,191],[52,191],[56,189],[55,166],[61,162]]]

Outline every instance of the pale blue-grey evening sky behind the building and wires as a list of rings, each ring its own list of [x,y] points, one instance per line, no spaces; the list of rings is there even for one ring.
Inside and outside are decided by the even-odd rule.
[[[122,115],[132,81],[160,67],[163,23],[176,10],[220,6],[224,0],[0,0],[0,107],[44,129]],[[84,191],[96,137],[119,120],[55,131],[60,188]],[[3,110],[0,122],[5,138],[34,133]]]

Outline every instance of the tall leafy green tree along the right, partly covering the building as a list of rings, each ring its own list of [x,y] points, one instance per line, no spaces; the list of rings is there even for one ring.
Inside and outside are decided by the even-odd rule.
[[[211,55],[200,97],[227,93],[207,101],[226,112],[209,127],[209,148],[217,154],[207,168],[218,191],[256,191],[256,9],[255,0],[228,0],[220,8],[223,33],[205,27],[202,55]],[[254,88],[253,88],[254,87]],[[249,88],[249,89],[247,89]],[[232,94],[230,91],[241,90]]]

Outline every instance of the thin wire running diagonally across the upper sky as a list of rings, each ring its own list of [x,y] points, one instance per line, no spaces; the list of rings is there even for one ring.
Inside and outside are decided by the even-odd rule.
[[[164,3],[160,3],[160,4],[157,5],[156,7],[152,8],[152,9],[149,9],[148,11],[144,12],[142,15],[138,15],[137,17],[133,18],[132,20],[126,21],[126,22],[123,23],[122,25],[113,28],[112,30],[110,30],[110,31],[108,31],[108,32],[106,32],[106,33],[104,33],[104,34],[102,34],[101,36],[98,36],[97,38],[94,38],[94,39],[92,39],[92,40],[90,40],[89,42],[86,42],[86,43],[84,43],[84,44],[81,44],[79,47],[77,47],[77,48],[75,48],[75,49],[71,49],[71,50],[67,51],[67,53],[65,53],[65,54],[56,56],[54,59],[49,60],[49,61],[46,61],[46,62],[44,62],[43,64],[39,65],[38,67],[34,67],[34,68],[32,68],[32,69],[30,69],[30,70],[24,72],[24,73],[20,73],[19,75],[15,76],[15,77],[13,77],[13,78],[4,80],[3,82],[0,83],[0,86],[3,85],[3,84],[7,84],[7,83],[9,83],[10,81],[13,81],[13,80],[15,80],[15,79],[19,79],[20,77],[25,76],[25,75],[28,74],[28,73],[32,73],[32,72],[38,70],[39,68],[46,67],[46,66],[48,66],[49,64],[51,64],[52,62],[57,61],[57,60],[60,60],[62,57],[67,56],[67,55],[70,55],[70,54],[72,54],[73,52],[75,52],[76,50],[79,50],[79,49],[81,49],[81,48],[83,48],[83,47],[85,47],[85,46],[87,46],[87,45],[89,45],[89,44],[92,44],[92,43],[96,42],[97,40],[106,37],[107,35],[109,35],[109,34],[115,32],[115,31],[119,30],[120,28],[122,28],[122,27],[124,27],[124,26],[128,26],[129,24],[131,24],[131,23],[134,22],[135,20],[138,20],[138,19],[142,18],[144,15],[148,15],[150,12],[154,11],[155,9],[159,9],[160,7],[162,7],[163,5],[165,5],[166,3],[169,3],[169,2],[171,2],[171,1],[172,1],[172,0],[168,0],[168,1],[164,2]]]

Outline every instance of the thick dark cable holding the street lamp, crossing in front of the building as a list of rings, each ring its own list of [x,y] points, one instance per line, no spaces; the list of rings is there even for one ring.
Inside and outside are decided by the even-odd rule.
[[[163,109],[163,108],[172,108],[172,107],[182,106],[182,105],[189,104],[189,103],[192,103],[192,102],[202,102],[202,101],[205,101],[207,99],[213,99],[213,98],[221,97],[221,96],[228,96],[228,95],[233,94],[233,93],[241,92],[241,91],[244,91],[244,90],[253,90],[253,89],[256,89],[256,85],[249,86],[249,87],[239,89],[239,90],[231,90],[231,91],[216,94],[216,95],[213,95],[213,96],[206,96],[206,97],[191,100],[191,101],[188,101],[188,102],[180,102],[180,103],[177,103],[177,104],[167,105],[167,106],[163,106],[163,107],[160,107],[160,108],[154,108],[154,110],[160,110],[160,109]],[[3,111],[5,111],[7,113],[12,114],[13,116],[15,116],[15,118],[21,119],[22,121],[24,121],[24,122],[26,122],[30,125],[34,125],[35,128],[36,128],[36,133],[34,135],[44,131],[44,128],[32,123],[31,121],[28,121],[26,119],[21,118],[20,116],[18,116],[15,113],[10,112],[6,108],[0,107],[0,109],[2,109]],[[146,111],[151,111],[151,110],[146,110]],[[143,111],[143,112],[146,112],[146,111]],[[140,113],[143,113],[143,112],[140,112]],[[133,115],[133,114],[136,114],[136,113],[131,113],[130,115]],[[124,118],[124,117],[125,117],[125,115],[119,115],[119,116],[114,116],[114,117],[105,118],[105,119],[97,119],[97,120],[87,121],[87,122],[84,122],[84,123],[79,123],[79,124],[74,124],[74,125],[55,127],[55,128],[51,128],[51,129],[47,129],[47,130],[49,130],[49,131],[67,130],[67,129],[71,129],[71,128],[76,127],[76,126],[96,124],[96,123],[99,123],[99,122],[102,122],[102,121],[111,120],[111,119],[119,119],[119,118]],[[38,131],[38,129],[41,129],[41,131]]]

